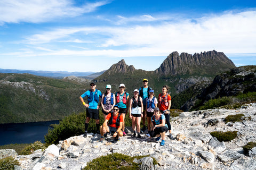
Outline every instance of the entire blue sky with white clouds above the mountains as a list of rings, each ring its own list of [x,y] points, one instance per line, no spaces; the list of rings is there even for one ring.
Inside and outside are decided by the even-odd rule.
[[[172,52],[256,65],[256,1],[0,0],[0,68],[155,70]]]

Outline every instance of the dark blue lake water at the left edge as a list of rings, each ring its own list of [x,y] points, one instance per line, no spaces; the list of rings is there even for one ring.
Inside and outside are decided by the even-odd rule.
[[[44,143],[44,135],[50,124],[59,124],[59,121],[0,124],[0,145],[35,141]]]

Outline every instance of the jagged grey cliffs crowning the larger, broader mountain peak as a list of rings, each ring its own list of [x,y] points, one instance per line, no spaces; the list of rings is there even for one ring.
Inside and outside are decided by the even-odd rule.
[[[171,53],[155,70],[155,73],[161,75],[217,75],[236,67],[234,63],[227,58],[224,53],[204,52],[194,55],[178,52]]]

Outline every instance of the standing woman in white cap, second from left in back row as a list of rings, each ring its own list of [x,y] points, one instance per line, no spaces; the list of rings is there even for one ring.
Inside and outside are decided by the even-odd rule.
[[[102,95],[101,107],[102,113],[104,116],[104,121],[106,120],[107,115],[112,111],[113,107],[116,105],[116,97],[111,93],[111,85],[107,84],[106,92]]]

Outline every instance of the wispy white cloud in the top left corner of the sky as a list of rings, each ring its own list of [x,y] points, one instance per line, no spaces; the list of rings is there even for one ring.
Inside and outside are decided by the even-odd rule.
[[[97,10],[110,1],[87,3],[80,7],[68,0],[9,0],[0,1],[0,23],[45,22],[70,18]]]

